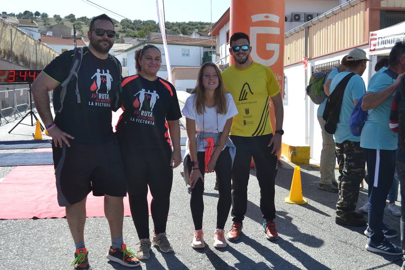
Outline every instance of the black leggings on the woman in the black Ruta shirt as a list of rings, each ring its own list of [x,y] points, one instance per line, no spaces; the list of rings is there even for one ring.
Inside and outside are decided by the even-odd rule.
[[[155,233],[166,232],[173,183],[170,146],[154,150],[120,146],[132,220],[139,239],[149,238],[148,185],[153,197],[151,214]]]

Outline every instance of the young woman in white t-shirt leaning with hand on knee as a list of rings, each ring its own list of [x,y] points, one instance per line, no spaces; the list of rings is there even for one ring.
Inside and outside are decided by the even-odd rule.
[[[204,63],[197,85],[185,101],[188,149],[184,177],[191,187],[190,207],[194,221],[192,247],[203,248],[204,173],[216,172],[219,199],[214,247],[226,247],[224,225],[231,206],[231,172],[236,149],[228,138],[232,117],[238,111],[231,94],[225,91],[221,71],[212,62]]]

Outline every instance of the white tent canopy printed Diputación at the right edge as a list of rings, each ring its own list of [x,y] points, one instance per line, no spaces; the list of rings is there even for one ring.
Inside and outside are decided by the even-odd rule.
[[[389,55],[398,41],[405,41],[405,21],[370,32],[369,55]]]

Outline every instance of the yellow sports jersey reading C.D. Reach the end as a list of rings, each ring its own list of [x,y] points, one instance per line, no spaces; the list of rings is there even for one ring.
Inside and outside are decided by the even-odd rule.
[[[221,75],[239,112],[233,117],[230,135],[250,137],[272,133],[269,96],[280,93],[273,71],[253,62],[244,69],[232,65]]]

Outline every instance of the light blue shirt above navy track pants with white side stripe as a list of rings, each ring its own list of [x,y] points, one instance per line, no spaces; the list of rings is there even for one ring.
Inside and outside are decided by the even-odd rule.
[[[383,67],[371,77],[367,91],[377,93],[386,89],[395,82],[384,70]],[[394,92],[395,93],[395,92]],[[369,110],[369,118],[364,123],[360,136],[360,146],[368,149],[396,150],[398,136],[390,130],[391,104],[394,94],[387,98],[374,111]]]

